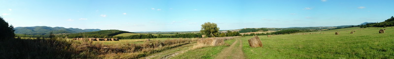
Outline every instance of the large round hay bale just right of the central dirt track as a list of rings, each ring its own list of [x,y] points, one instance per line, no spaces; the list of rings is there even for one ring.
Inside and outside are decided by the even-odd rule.
[[[250,47],[263,47],[263,43],[259,37],[255,36],[252,39],[248,40]]]

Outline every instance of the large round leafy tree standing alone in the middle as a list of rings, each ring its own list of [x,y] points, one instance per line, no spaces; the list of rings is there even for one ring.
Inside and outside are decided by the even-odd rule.
[[[206,37],[218,37],[219,27],[216,23],[205,22],[201,25],[200,33],[205,34]]]

